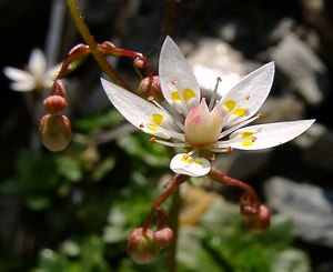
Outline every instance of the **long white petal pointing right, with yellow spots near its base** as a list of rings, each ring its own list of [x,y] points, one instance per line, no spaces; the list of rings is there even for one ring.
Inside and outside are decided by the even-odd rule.
[[[258,124],[242,128],[224,144],[233,149],[260,150],[280,145],[302,134],[315,120]]]

